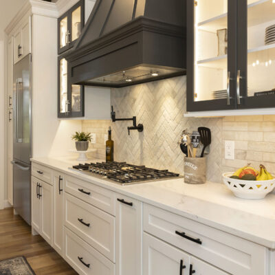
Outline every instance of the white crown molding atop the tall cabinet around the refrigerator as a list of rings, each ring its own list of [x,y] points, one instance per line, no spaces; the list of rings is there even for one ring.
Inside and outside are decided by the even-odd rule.
[[[21,19],[23,19],[23,17],[25,17],[26,14],[38,14],[54,18],[58,18],[59,15],[56,8],[56,3],[42,0],[28,0],[5,28],[5,33],[10,34],[10,32],[16,28],[17,24],[21,21]]]

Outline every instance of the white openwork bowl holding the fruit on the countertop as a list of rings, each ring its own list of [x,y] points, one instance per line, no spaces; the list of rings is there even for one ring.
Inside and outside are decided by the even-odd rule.
[[[243,179],[232,179],[233,172],[223,173],[223,182],[241,199],[263,199],[275,188],[275,179],[266,181],[248,181]],[[272,177],[275,177],[272,175]]]

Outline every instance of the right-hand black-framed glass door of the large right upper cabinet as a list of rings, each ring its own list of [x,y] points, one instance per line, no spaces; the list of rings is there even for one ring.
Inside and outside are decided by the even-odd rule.
[[[275,107],[275,3],[238,0],[238,109]]]

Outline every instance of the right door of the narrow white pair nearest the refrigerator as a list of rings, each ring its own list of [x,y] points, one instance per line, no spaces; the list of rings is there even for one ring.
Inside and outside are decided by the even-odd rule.
[[[52,245],[52,186],[41,181],[41,236]]]

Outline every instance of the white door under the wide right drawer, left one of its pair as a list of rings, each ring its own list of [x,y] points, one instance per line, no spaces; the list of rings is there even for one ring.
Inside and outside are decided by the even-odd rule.
[[[189,275],[189,267],[189,254],[143,234],[143,275]]]

